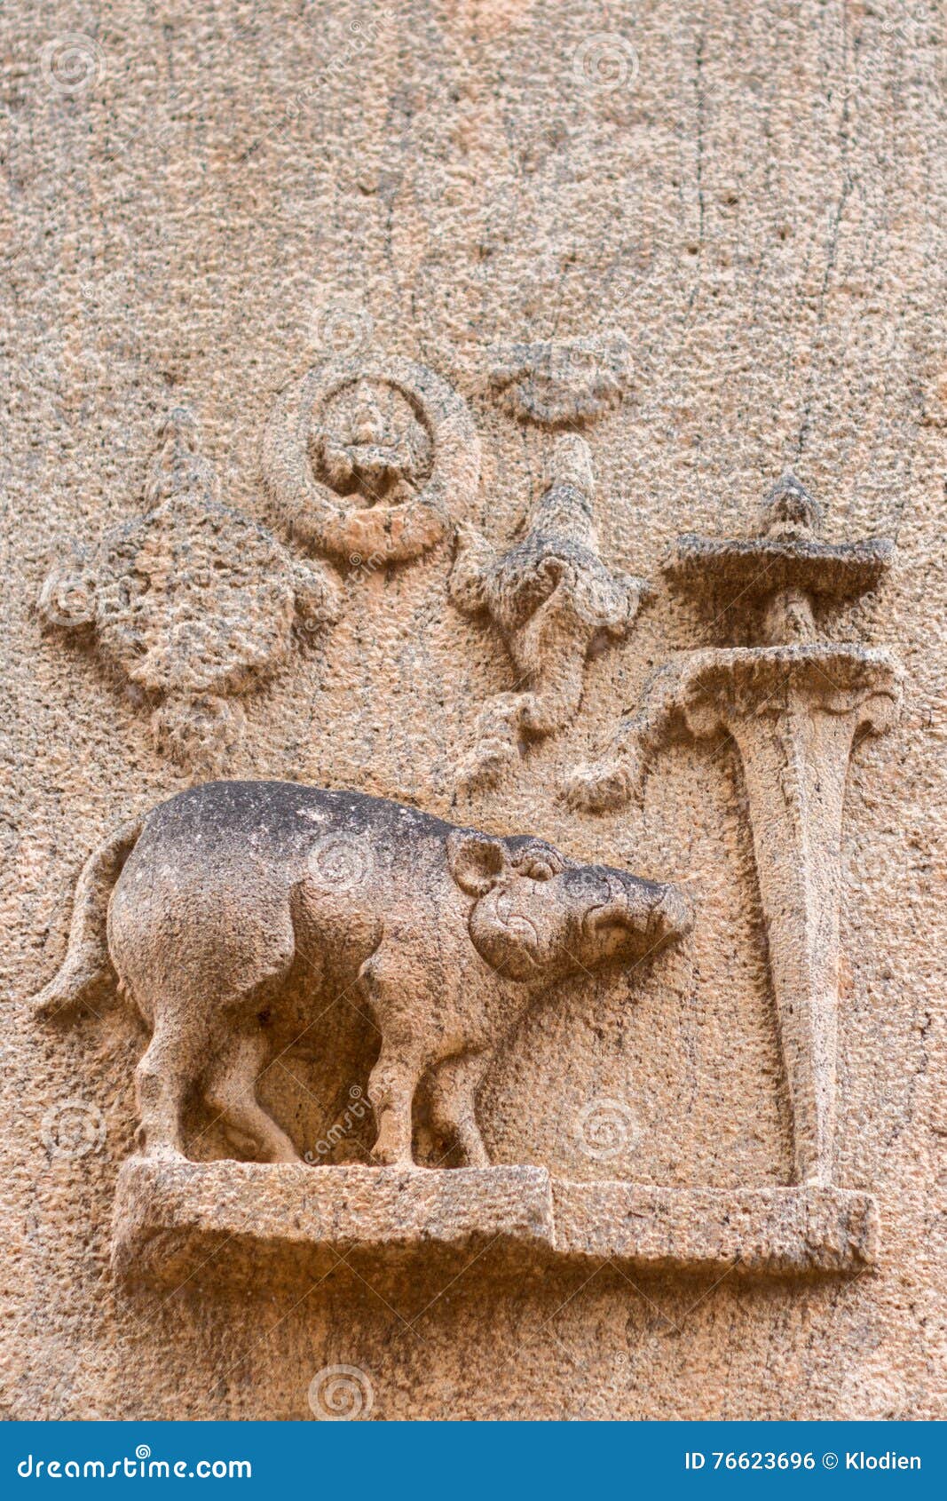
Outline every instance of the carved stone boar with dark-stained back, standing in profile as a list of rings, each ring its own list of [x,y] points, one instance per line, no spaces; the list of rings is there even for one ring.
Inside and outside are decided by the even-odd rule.
[[[435,1126],[485,1166],[476,1090],[531,1003],[689,926],[677,887],[576,865],[531,835],[498,839],[359,793],[209,782],[89,859],[66,959],[35,1004],[81,1004],[111,961],[152,1027],[135,1075],[141,1150],[183,1156],[182,1111],[200,1091],[245,1150],[297,1162],[255,1082],[278,1049],[318,1040],[320,1015],[348,994],[381,1034],[375,1160],[413,1162],[411,1102],[432,1070]]]

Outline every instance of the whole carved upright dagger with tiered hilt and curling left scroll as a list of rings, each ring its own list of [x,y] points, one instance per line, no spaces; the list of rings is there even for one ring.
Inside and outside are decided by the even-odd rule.
[[[818,639],[816,608],[857,597],[888,566],[887,539],[831,546],[818,506],[791,474],[762,506],[761,536],[683,536],[665,564],[672,588],[713,623],[762,645],[696,651],[665,666],[611,752],[572,778],[591,811],[641,797],[651,757],[681,729],[729,735],[746,784],[797,1183],[834,1178],[842,803],[852,743],[887,729],[900,669],[887,651]]]

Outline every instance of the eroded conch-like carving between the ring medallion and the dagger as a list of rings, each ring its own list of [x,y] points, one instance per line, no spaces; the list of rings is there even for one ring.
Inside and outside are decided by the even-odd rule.
[[[630,630],[645,584],[606,567],[594,524],[594,476],[584,438],[557,441],[548,483],[525,534],[497,552],[470,525],[458,528],[450,597],[498,626],[525,686],[489,699],[462,785],[491,787],[519,755],[519,740],[561,729],[578,711],[588,653]]]

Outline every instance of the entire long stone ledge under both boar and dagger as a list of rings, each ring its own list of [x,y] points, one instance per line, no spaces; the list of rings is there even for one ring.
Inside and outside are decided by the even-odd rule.
[[[834,1187],[566,1183],[545,1168],[444,1171],[155,1162],[122,1168],[113,1268],[125,1282],[252,1285],[329,1273],[614,1261],[638,1271],[800,1276],[875,1261],[878,1210]]]

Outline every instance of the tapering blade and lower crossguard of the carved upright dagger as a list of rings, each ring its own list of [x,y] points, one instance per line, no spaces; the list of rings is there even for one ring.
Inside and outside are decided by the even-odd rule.
[[[896,717],[897,666],[857,645],[701,651],[681,677],[701,738],[740,752],[798,1183],[833,1181],[839,847],[852,740]]]

